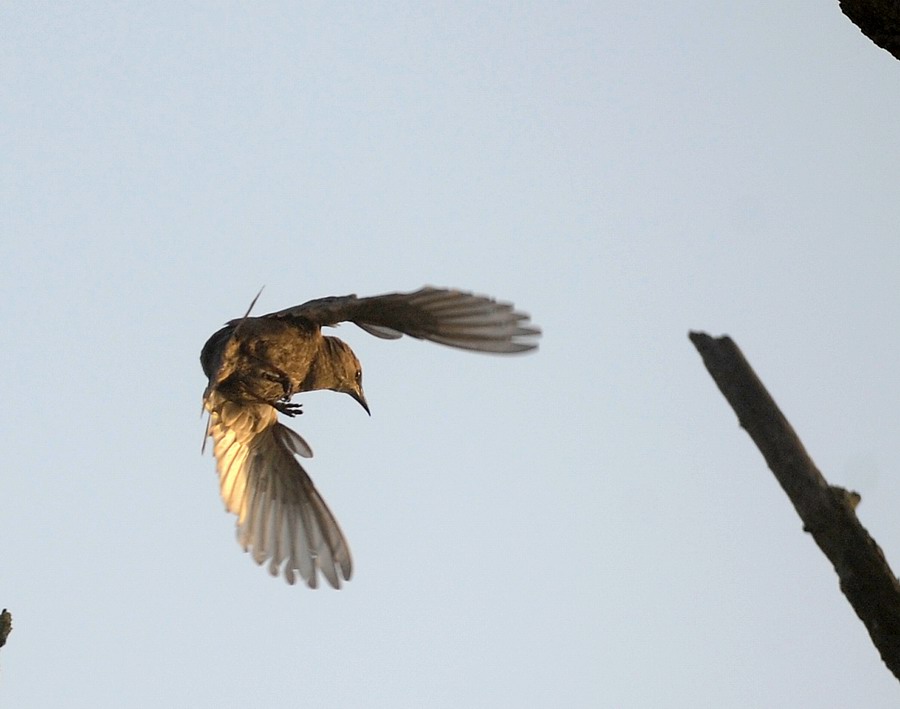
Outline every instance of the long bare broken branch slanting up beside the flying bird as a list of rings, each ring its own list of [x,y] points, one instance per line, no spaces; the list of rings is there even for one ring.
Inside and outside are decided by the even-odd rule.
[[[730,337],[690,333],[741,427],[766,459],[865,624],[881,659],[900,679],[900,583],[854,511],[856,493],[832,487]]]

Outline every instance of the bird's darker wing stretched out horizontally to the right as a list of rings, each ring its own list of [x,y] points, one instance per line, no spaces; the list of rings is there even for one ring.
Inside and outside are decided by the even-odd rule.
[[[537,348],[540,328],[526,313],[483,295],[426,287],[371,298],[355,295],[311,300],[271,318],[303,318],[316,325],[353,322],[386,339],[409,335],[478,352],[512,354]]]

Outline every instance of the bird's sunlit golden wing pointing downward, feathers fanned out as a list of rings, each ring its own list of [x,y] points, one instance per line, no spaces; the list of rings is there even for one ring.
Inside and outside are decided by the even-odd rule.
[[[238,516],[238,542],[257,564],[269,562],[293,584],[310,588],[318,571],[334,588],[347,581],[352,561],[347,540],[296,456],[312,457],[297,433],[278,423],[265,404],[240,405],[218,392],[207,395],[222,500]]]

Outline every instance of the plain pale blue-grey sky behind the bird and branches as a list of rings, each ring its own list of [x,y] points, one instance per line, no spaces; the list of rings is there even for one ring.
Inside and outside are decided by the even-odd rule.
[[[377,7],[375,6],[377,5]],[[900,702],[687,334],[900,567],[900,63],[837,2],[7,2],[8,707]],[[235,542],[206,338],[449,286],[503,358],[338,330],[340,591]]]

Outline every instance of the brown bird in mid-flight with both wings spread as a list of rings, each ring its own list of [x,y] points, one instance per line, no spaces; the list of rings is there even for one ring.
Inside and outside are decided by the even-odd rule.
[[[278,416],[303,413],[292,397],[320,389],[349,395],[371,415],[359,359],[322,328],[350,322],[382,339],[408,335],[503,355],[537,349],[541,329],[511,303],[431,286],[364,298],[318,298],[251,317],[257,298],[200,353],[208,379],[204,446],[212,439],[222,500],[237,515],[244,551],[257,564],[268,562],[269,572],[282,573],[290,584],[301,579],[316,588],[321,574],[338,589],[352,574],[349,545],[298,460],[312,458],[312,449]]]

